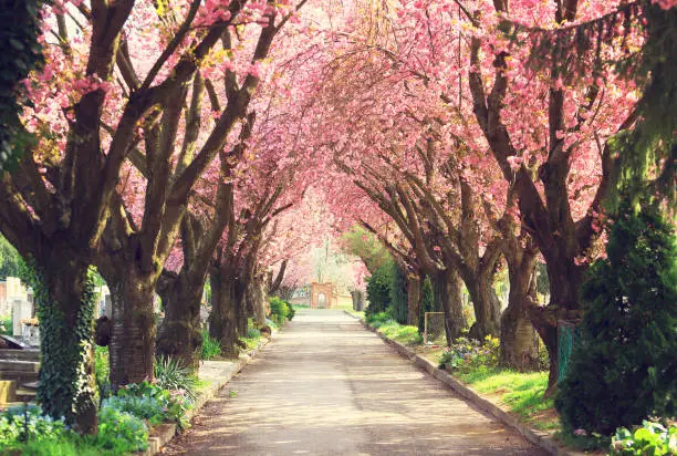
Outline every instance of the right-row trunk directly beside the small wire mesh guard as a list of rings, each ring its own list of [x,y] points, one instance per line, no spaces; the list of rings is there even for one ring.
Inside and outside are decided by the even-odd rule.
[[[458,339],[467,322],[462,308],[462,281],[456,271],[440,271],[435,276],[433,283],[435,308],[441,308],[445,313],[445,334],[447,344]]]

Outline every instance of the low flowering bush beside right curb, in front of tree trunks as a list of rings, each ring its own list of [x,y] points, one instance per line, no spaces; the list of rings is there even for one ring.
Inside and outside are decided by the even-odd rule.
[[[472,370],[478,366],[494,367],[499,361],[500,342],[488,335],[480,344],[473,339],[458,338],[439,360],[440,369]]]

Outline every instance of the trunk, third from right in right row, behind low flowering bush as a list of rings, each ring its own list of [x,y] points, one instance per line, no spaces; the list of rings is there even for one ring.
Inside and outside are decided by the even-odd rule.
[[[475,277],[466,277],[466,288],[475,309],[475,323],[469,336],[483,341],[487,335],[498,338],[500,331],[501,301],[493,291],[493,271],[482,271]]]

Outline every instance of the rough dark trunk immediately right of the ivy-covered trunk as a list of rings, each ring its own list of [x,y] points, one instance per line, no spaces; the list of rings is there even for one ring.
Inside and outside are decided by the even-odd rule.
[[[111,338],[111,385],[153,380],[155,356],[155,314],[153,276],[135,273],[134,267],[105,277],[113,301]]]

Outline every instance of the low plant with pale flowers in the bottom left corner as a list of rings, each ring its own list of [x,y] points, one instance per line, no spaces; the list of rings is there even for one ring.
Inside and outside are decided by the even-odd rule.
[[[25,426],[28,417],[28,426]],[[28,431],[28,435],[25,432]],[[17,405],[0,413],[0,447],[10,446],[24,441],[59,438],[65,433],[62,419],[53,419],[42,415],[38,405]]]

